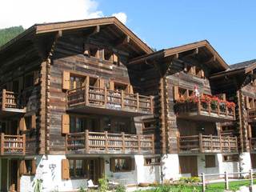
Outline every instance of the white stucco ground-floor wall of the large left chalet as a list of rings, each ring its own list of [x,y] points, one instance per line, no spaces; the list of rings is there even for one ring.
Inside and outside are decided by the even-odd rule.
[[[86,186],[86,179],[62,180],[62,159],[65,155],[47,155],[35,157],[37,170],[34,176],[21,178],[21,191],[32,192],[34,182],[42,179],[42,191],[69,191]],[[124,185],[138,184],[139,182],[159,182],[160,167],[144,166],[143,155],[135,155],[135,169],[129,172],[113,173],[110,171],[110,156],[102,157],[105,160],[106,177]],[[158,173],[159,172],[159,173]]]

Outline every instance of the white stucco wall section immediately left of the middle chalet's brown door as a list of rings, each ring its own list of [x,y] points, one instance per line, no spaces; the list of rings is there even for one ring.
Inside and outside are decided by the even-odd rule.
[[[180,178],[178,154],[165,154],[162,156],[162,177],[168,180]]]

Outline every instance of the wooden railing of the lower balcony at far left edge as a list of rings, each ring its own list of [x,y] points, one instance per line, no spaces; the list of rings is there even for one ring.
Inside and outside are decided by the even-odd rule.
[[[26,153],[26,136],[1,134],[1,155],[23,155]]]

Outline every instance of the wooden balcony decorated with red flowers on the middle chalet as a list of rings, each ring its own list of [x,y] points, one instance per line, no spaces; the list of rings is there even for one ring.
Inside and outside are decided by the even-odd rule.
[[[235,107],[226,102],[206,102],[202,98],[177,102],[175,113],[178,118],[187,118],[208,122],[226,122],[235,120]]]

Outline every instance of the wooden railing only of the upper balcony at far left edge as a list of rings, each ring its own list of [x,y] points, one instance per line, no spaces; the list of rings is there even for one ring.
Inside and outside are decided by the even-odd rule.
[[[18,94],[12,91],[2,90],[0,93],[0,106],[2,110],[8,109],[23,109]]]

